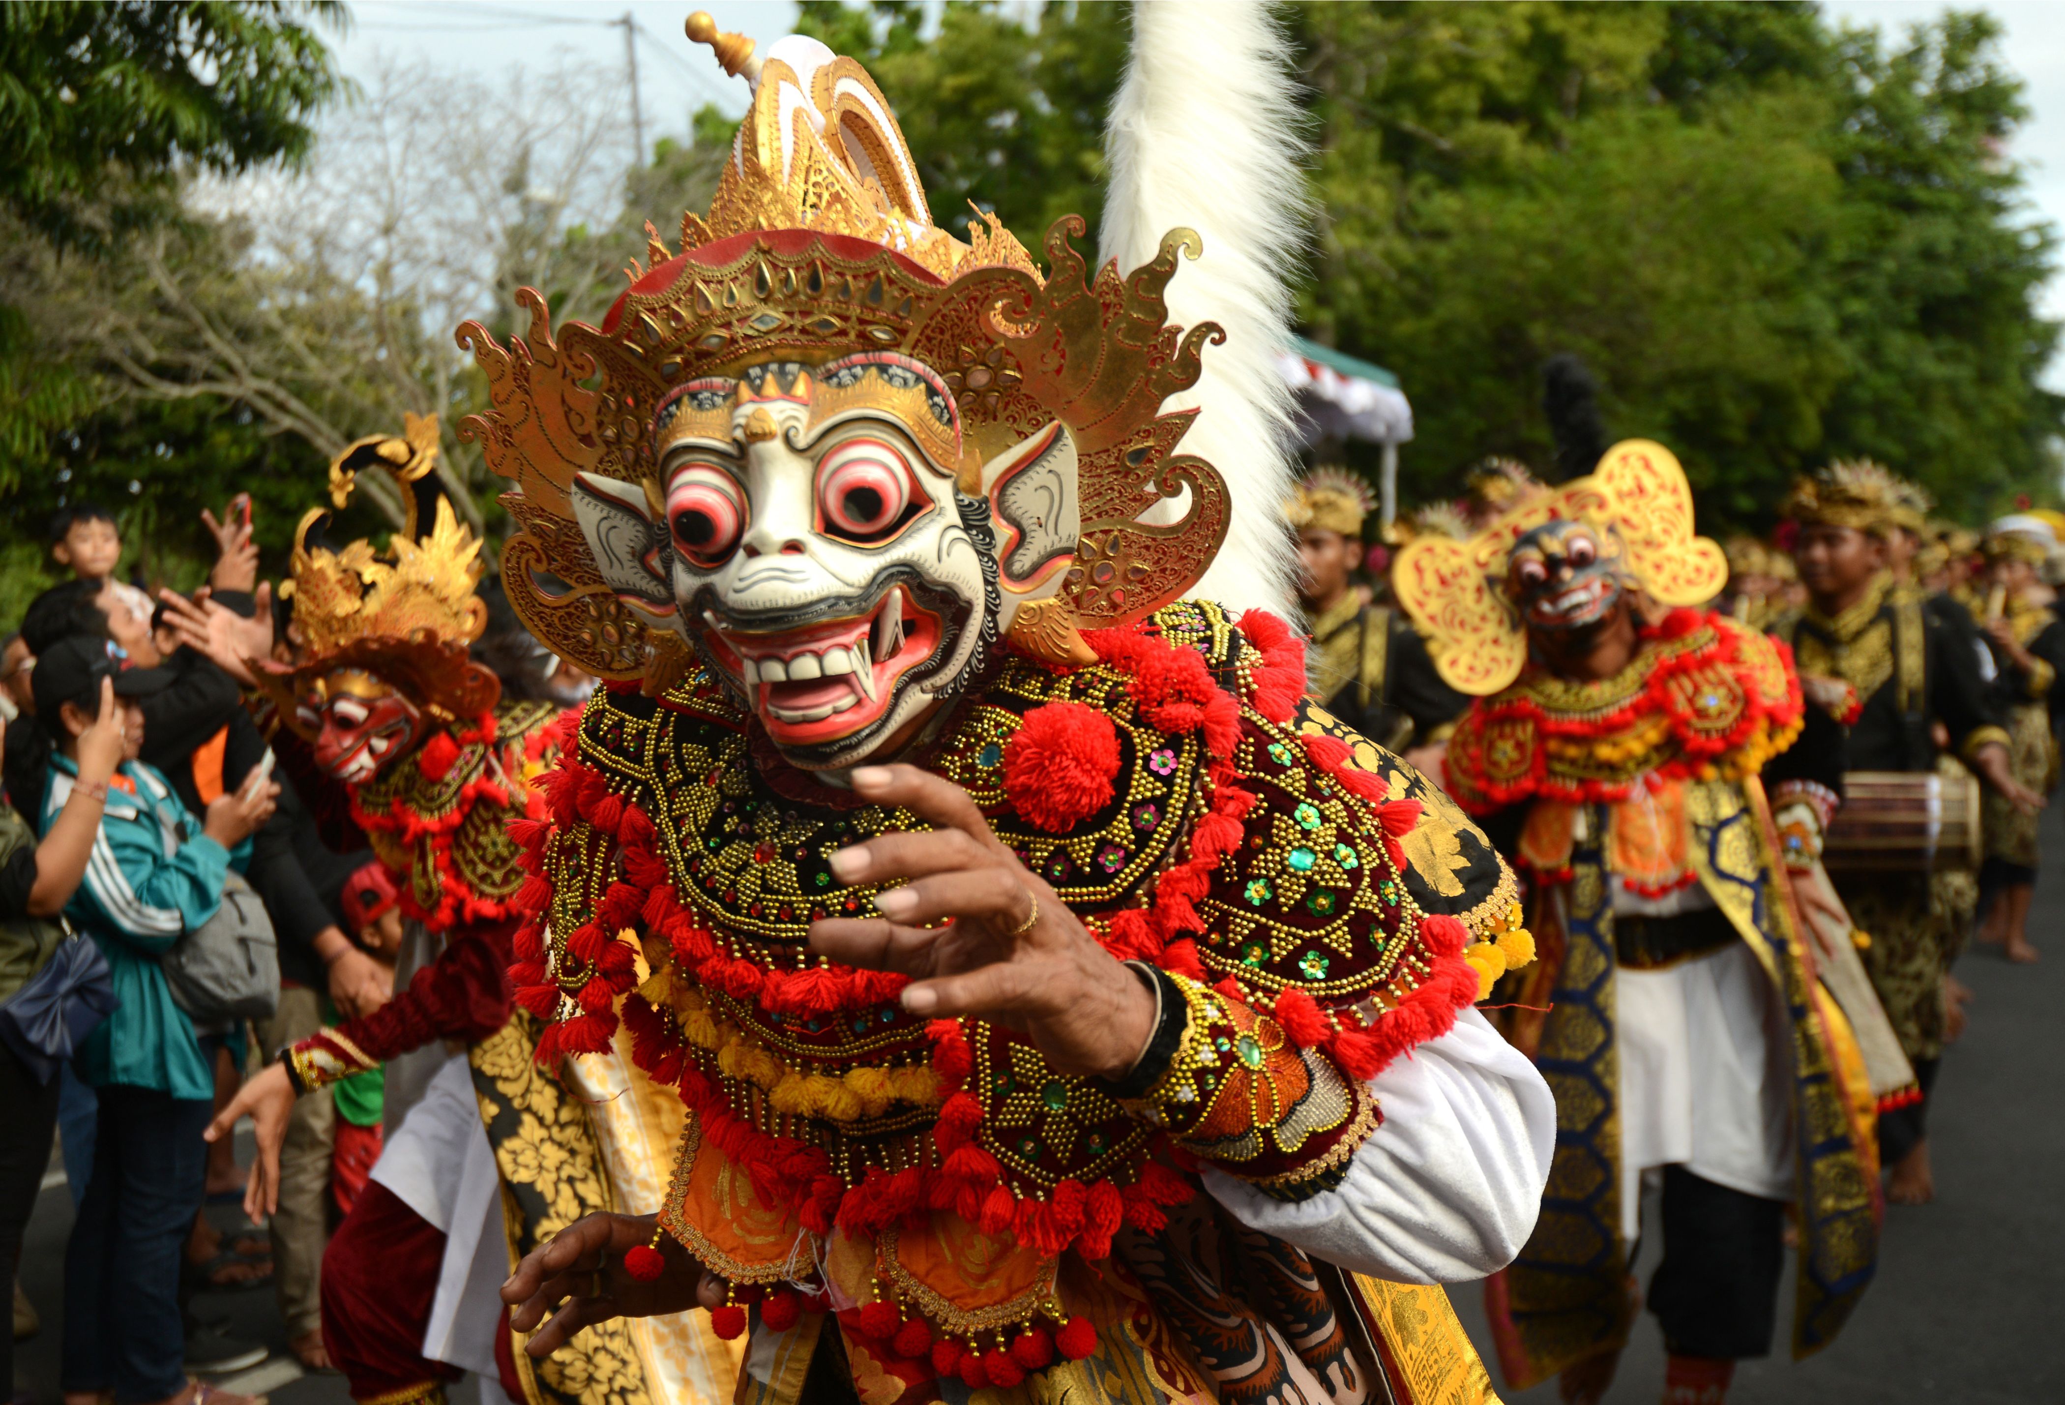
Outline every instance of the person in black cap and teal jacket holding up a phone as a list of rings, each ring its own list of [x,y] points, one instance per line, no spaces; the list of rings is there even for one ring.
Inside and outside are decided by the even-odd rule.
[[[83,787],[103,802],[87,878],[64,913],[99,944],[118,998],[76,1058],[99,1099],[99,1124],[93,1178],[64,1256],[64,1391],[171,1403],[188,1395],[180,1246],[202,1200],[200,1132],[215,1076],[159,957],[215,915],[233,851],[248,853],[279,787],[256,779],[209,804],[196,824],[165,775],[136,760],[145,744],[138,698],[165,682],[159,669],[122,667],[105,638],[72,636],[37,655],[33,688],[56,742],[43,829]],[[124,760],[95,783],[83,773],[81,740],[107,686],[122,709]]]

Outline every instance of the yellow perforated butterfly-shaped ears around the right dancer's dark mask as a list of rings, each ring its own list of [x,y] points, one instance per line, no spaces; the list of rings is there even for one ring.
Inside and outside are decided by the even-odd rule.
[[[1728,581],[1720,545],[1693,535],[1691,483],[1677,457],[1650,440],[1623,440],[1586,477],[1530,498],[1468,541],[1423,535],[1398,552],[1392,589],[1458,692],[1489,696],[1520,676],[1528,643],[1505,597],[1505,560],[1522,535],[1555,519],[1619,541],[1627,585],[1658,603],[1697,605]]]

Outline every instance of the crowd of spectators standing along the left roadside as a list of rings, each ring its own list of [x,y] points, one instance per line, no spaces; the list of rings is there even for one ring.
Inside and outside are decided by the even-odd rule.
[[[295,1103],[262,1234],[204,1213],[246,1188],[211,1120],[275,1050],[392,998],[403,922],[388,870],[324,847],[275,771],[250,663],[295,663],[295,628],[258,581],[248,504],[202,519],[206,585],[153,599],[116,574],[114,514],[66,508],[50,554],[70,579],[0,645],[0,1265],[56,1145],[76,1209],[66,1405],[244,1405],[206,1380],[266,1347],[196,1314],[221,1289],[271,1287],[299,1364],[326,1370],[322,1252],[382,1147],[372,1068]],[[477,651],[508,684],[570,686],[545,684],[551,659],[491,591],[489,618]],[[14,1341],[35,1331],[17,1277],[17,1405]]]

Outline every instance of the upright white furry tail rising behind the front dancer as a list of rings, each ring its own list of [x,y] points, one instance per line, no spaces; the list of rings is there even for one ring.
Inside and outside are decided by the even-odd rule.
[[[1289,341],[1289,275],[1309,194],[1289,50],[1258,0],[1134,6],[1132,60],[1105,128],[1111,188],[1099,262],[1117,258],[1130,273],[1179,225],[1204,238],[1202,258],[1177,262],[1169,318],[1218,322],[1227,341],[1204,349],[1202,380],[1165,409],[1204,409],[1177,448],[1225,475],[1233,525],[1194,593],[1295,620],[1282,508],[1297,461],[1276,357]]]

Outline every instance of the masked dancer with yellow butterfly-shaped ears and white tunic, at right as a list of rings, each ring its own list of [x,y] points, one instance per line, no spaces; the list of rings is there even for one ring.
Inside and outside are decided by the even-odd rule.
[[[1797,1355],[1834,1341],[1873,1273],[1871,1095],[1772,820],[1774,800],[1834,793],[1840,738],[1823,717],[1794,744],[1788,651],[1687,607],[1726,572],[1677,459],[1629,440],[1470,541],[1412,541],[1392,574],[1441,676],[1476,694],[1450,789],[1534,886],[1543,961],[1501,1002],[1559,1136],[1489,1310],[1507,1380],[1559,1374],[1565,1401],[1598,1401],[1627,1341],[1646,1186],[1673,1405],[1718,1403],[1735,1362],[1770,1351],[1788,1211]]]

